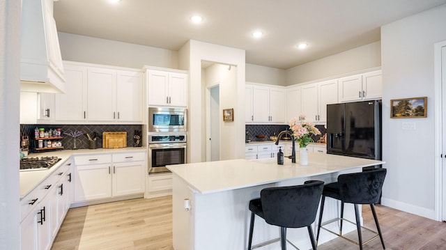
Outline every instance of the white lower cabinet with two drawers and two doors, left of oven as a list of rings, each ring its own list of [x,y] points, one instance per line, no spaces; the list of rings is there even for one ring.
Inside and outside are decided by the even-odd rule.
[[[144,193],[146,153],[75,156],[73,203]]]

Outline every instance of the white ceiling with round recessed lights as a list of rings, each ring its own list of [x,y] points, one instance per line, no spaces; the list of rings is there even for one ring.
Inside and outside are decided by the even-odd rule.
[[[246,50],[246,62],[288,69],[380,40],[380,26],[446,0],[60,0],[58,31],[178,50],[199,40]],[[190,22],[202,15],[203,23]],[[410,28],[410,27],[408,27]],[[263,38],[254,39],[254,30]],[[296,49],[307,42],[305,50]]]

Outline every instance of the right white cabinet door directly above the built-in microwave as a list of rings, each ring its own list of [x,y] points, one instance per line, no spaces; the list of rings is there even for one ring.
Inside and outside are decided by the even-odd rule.
[[[187,75],[169,73],[169,105],[186,106]]]

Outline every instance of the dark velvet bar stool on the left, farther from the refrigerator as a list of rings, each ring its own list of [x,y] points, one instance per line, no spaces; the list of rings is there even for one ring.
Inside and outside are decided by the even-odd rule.
[[[282,250],[286,249],[286,228],[304,226],[308,228],[313,249],[316,249],[311,225],[316,219],[323,184],[320,180],[309,180],[304,185],[262,189],[260,198],[249,201],[251,225],[249,226],[248,250],[252,249],[252,232],[256,214],[265,219],[266,223],[280,226]],[[277,242],[277,240],[266,244],[272,242]]]

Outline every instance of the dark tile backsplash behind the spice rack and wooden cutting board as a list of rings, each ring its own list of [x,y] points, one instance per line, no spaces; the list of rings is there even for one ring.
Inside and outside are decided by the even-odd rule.
[[[43,127],[45,130],[55,129],[60,127],[62,129],[62,146],[64,149],[72,149],[74,139],[63,133],[72,132],[75,130],[81,131],[84,135],[77,137],[77,148],[89,148],[89,139],[86,134],[93,134],[94,132],[100,135],[100,139],[96,141],[96,148],[102,148],[102,132],[127,132],[127,146],[135,146],[133,136],[141,134],[142,125],[43,125],[43,124],[21,124],[20,134],[29,136],[29,151],[36,152],[37,141],[34,139],[34,129],[36,127]],[[142,146],[141,140],[139,145]]]

